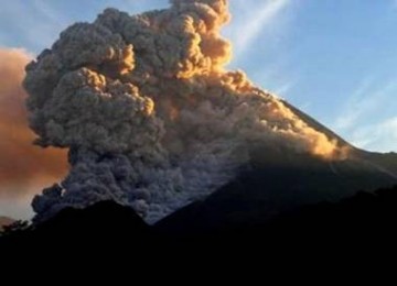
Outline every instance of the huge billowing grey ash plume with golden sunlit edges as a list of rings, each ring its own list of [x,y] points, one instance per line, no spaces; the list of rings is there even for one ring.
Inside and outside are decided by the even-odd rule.
[[[33,200],[36,220],[114,199],[154,222],[229,182],[251,144],[335,154],[282,101],[224,70],[228,20],[226,0],[171,0],[132,16],[107,9],[26,67],[36,143],[69,148],[72,166]]]

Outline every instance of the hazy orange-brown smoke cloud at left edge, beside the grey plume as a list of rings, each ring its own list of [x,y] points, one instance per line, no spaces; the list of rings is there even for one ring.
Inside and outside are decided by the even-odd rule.
[[[31,56],[23,50],[0,48],[0,197],[20,196],[66,174],[65,154],[33,146],[22,88],[24,66]]]

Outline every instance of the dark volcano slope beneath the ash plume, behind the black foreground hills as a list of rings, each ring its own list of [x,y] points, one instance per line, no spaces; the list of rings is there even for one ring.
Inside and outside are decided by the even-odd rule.
[[[264,223],[305,205],[337,201],[358,190],[397,184],[393,172],[371,161],[371,156],[323,161],[259,146],[251,150],[250,157],[248,169],[237,179],[205,200],[169,216],[159,222],[159,228],[200,233]]]

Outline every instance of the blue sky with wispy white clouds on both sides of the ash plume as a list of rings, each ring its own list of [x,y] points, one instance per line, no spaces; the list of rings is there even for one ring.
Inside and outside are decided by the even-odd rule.
[[[397,152],[396,0],[230,0],[230,68],[245,70],[357,146]],[[37,54],[106,7],[167,0],[0,0],[0,46]]]

